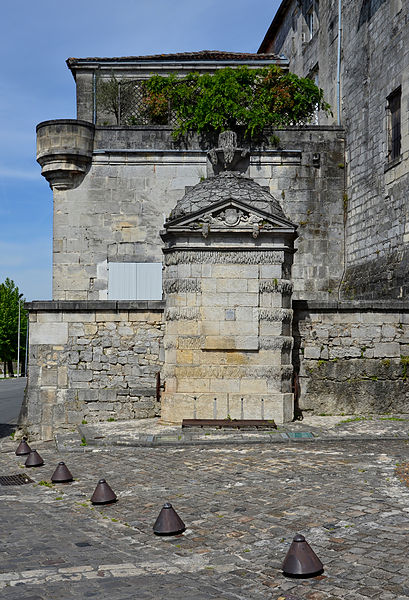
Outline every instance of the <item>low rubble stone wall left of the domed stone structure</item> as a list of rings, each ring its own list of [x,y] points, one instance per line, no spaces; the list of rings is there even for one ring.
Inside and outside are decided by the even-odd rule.
[[[82,421],[160,414],[163,303],[32,302],[20,424],[49,438]]]

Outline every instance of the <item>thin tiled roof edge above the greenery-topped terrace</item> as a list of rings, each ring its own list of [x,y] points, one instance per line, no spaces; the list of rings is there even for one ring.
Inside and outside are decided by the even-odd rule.
[[[146,56],[121,56],[121,57],[88,57],[68,58],[69,67],[82,62],[185,62],[185,61],[277,61],[283,58],[276,54],[257,54],[254,52],[228,52],[225,50],[201,50],[200,52],[176,52],[174,54],[150,54]],[[287,62],[287,61],[285,61]]]

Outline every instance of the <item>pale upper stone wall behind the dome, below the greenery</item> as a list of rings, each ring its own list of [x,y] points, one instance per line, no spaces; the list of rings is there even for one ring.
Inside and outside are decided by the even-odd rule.
[[[56,148],[47,154],[44,140],[47,128],[57,126],[39,128],[41,152],[50,161]],[[246,175],[268,186],[299,226],[295,297],[328,300],[344,271],[343,130],[311,126],[278,133],[278,148],[268,135],[264,145],[251,148]],[[54,187],[55,300],[106,300],[110,262],[162,261],[165,218],[185,186],[213,172],[203,140],[193,137],[186,146],[174,142],[168,127],[96,128],[87,173],[73,185],[71,169],[71,187],[61,188],[61,177]]]

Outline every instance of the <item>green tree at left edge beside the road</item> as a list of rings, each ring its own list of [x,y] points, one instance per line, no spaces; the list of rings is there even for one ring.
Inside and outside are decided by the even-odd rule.
[[[0,283],[0,360],[13,376],[13,360],[17,359],[18,315],[20,305],[20,359],[25,355],[27,311],[24,310],[24,298],[14,281],[8,277]]]

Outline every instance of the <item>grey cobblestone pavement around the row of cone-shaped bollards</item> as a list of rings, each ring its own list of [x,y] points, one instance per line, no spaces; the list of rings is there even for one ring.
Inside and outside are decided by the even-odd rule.
[[[406,440],[138,448],[38,445],[45,465],[2,444],[0,595],[5,600],[409,599],[409,489],[395,476]],[[76,481],[48,487],[58,461]],[[118,495],[89,503],[105,477]],[[165,501],[187,525],[157,537]],[[325,566],[289,579],[302,533]]]

